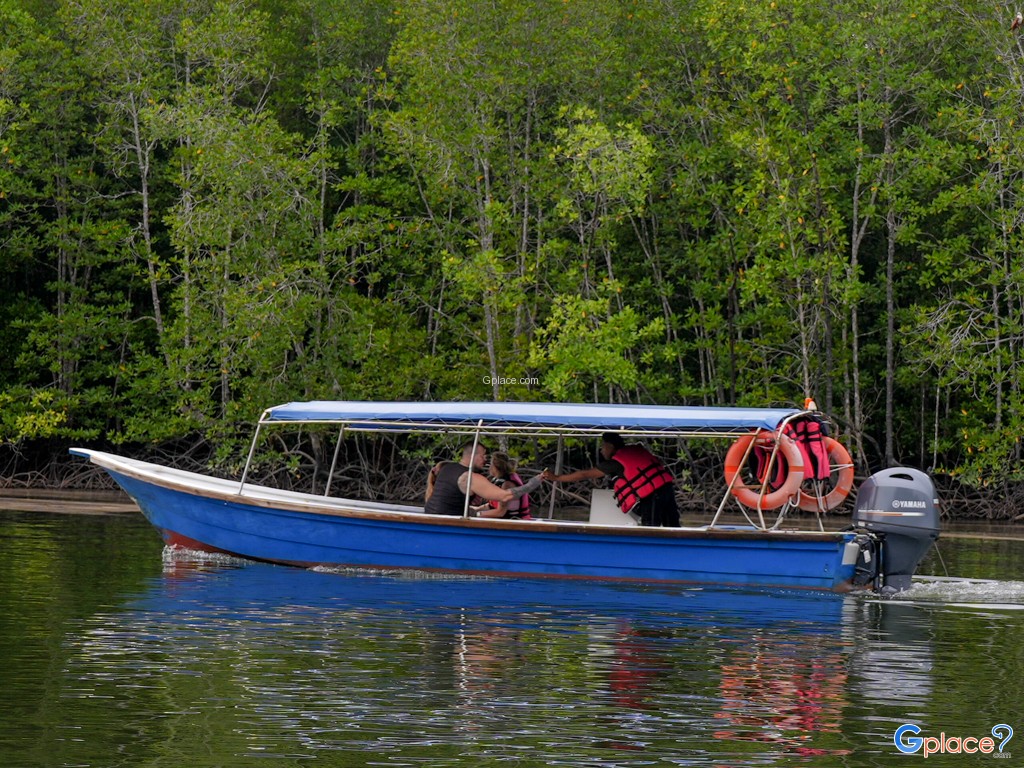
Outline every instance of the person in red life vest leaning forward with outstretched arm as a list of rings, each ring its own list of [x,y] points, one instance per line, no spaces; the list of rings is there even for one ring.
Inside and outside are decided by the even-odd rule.
[[[616,432],[601,435],[601,461],[596,466],[564,475],[545,470],[542,477],[551,482],[611,477],[615,503],[623,512],[638,515],[641,525],[679,527],[679,506],[672,474],[647,449],[627,445]]]

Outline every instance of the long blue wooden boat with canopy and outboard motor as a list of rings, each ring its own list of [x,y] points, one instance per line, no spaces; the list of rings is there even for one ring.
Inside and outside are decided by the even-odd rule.
[[[614,430],[635,439],[736,440],[755,434],[775,435],[781,442],[783,426],[806,415],[790,409],[589,403],[292,402],[263,413],[249,458],[261,432],[282,426],[335,425],[339,444],[345,431],[353,430],[463,433],[472,439],[588,437]],[[228,480],[86,449],[72,453],[109,472],[169,546],[303,567],[837,592],[904,589],[938,536],[934,487],[915,470],[869,478],[852,525],[842,531],[823,530],[820,522],[816,529],[790,527],[785,508],[796,500],[771,524],[762,509],[748,515],[749,524],[720,524],[734,498],[730,488],[712,523],[654,528],[629,524],[625,515],[610,523],[430,515],[417,505],[256,485],[247,482],[248,463],[241,480]]]

